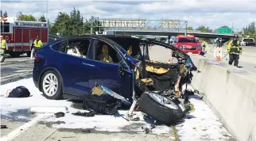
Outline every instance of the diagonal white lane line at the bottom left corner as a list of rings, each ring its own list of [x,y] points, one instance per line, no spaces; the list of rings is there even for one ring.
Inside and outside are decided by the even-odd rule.
[[[49,114],[41,114],[41,115],[33,118],[33,120],[29,121],[28,123],[23,124],[19,128],[16,128],[14,131],[11,131],[8,135],[3,136],[1,138],[1,141],[9,141],[9,140],[14,139],[15,137],[17,137],[17,135],[21,135],[22,132],[28,130],[29,127],[33,126],[34,124],[37,124],[41,119],[43,119],[46,116],[49,116]]]

